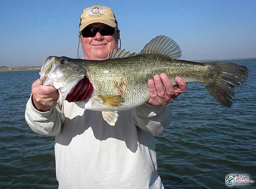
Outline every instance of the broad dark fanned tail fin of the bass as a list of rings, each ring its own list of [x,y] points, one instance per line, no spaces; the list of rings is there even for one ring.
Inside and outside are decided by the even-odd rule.
[[[234,87],[247,79],[247,67],[225,62],[206,63],[206,66],[212,70],[212,77],[203,85],[222,106],[231,107],[235,97]]]

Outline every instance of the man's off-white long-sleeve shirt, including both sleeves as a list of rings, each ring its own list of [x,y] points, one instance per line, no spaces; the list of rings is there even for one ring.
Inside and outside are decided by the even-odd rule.
[[[101,112],[64,101],[48,112],[34,108],[31,98],[25,118],[31,129],[55,136],[59,189],[163,189],[157,174],[153,135],[169,125],[167,106],[148,104],[119,111],[115,126]]]

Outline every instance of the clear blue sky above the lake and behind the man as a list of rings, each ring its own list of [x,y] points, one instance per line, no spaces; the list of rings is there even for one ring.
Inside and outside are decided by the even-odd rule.
[[[183,60],[256,57],[254,0],[1,0],[0,5],[0,66],[42,65],[49,55],[76,58],[79,16],[93,5],[113,9],[122,49],[130,52],[164,34],[180,45]],[[79,54],[83,57],[81,49]]]

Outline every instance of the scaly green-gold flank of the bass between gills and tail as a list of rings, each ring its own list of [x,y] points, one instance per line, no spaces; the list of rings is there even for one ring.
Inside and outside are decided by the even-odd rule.
[[[89,80],[95,84],[97,94],[122,95],[125,103],[111,107],[124,110],[131,105],[140,105],[149,99],[148,80],[156,74],[166,73],[175,84],[175,77],[180,76],[186,82],[205,82],[210,67],[202,63],[185,60],[172,60],[158,54],[141,54],[134,57],[87,61],[84,69]],[[102,107],[101,107],[102,108]],[[110,107],[105,106],[106,109]]]

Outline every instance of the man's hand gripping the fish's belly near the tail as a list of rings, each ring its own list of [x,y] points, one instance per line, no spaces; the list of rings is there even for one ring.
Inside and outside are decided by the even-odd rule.
[[[166,105],[179,94],[186,92],[186,82],[181,77],[176,77],[175,82],[176,84],[173,86],[166,74],[154,75],[154,80],[148,80],[150,99],[147,103]]]

